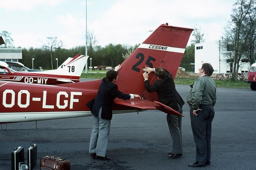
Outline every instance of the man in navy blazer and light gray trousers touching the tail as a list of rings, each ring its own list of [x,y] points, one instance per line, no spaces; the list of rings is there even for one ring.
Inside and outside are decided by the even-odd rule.
[[[93,128],[90,138],[89,153],[93,158],[101,160],[110,160],[106,156],[108,146],[108,137],[110,131],[110,121],[112,119],[111,105],[116,97],[128,100],[140,98],[137,94],[124,94],[118,90],[118,86],[114,84],[118,79],[118,70],[120,65],[116,66],[115,70],[109,70],[106,77],[102,79],[98,89],[97,96],[92,106]]]

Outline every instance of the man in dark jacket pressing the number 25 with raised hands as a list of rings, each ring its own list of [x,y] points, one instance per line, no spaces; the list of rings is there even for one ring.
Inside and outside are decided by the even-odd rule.
[[[174,84],[172,74],[170,74],[163,67],[157,68],[143,68],[144,85],[148,92],[157,92],[159,102],[166,106],[172,107],[172,109],[182,114],[182,106],[184,101],[180,94],[177,92]],[[148,74],[146,73],[155,72],[158,80],[150,86],[148,81]],[[167,114],[167,123],[169,131],[172,137],[172,151],[168,152],[168,158],[179,158],[182,156],[182,134],[181,134],[181,123],[182,117],[172,114]]]

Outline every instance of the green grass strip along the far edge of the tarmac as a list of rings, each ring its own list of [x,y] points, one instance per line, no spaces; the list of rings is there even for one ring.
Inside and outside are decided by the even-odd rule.
[[[92,72],[85,74],[84,72],[81,75],[81,78],[104,78],[106,76],[106,72],[104,73],[97,73]],[[175,78],[175,84],[183,84],[183,85],[190,85],[193,84],[196,78],[184,78],[184,77],[177,77]],[[238,81],[232,82],[230,80],[214,80],[217,87],[224,87],[224,88],[241,88],[241,89],[250,89],[250,83]]]

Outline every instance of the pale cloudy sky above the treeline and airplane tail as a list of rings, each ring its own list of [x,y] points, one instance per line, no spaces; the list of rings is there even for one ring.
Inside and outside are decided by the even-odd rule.
[[[142,43],[162,23],[194,28],[206,41],[221,38],[235,0],[87,0],[87,29],[97,45]],[[58,37],[65,48],[85,45],[86,0],[1,0],[0,32],[15,47],[42,47]]]

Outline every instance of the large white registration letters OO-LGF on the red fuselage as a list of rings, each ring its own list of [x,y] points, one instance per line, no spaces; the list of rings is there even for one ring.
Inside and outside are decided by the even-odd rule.
[[[65,91],[60,91],[56,94],[56,105],[47,104],[47,100],[54,100],[54,98],[47,98],[47,91],[43,91],[42,97],[30,97],[30,92],[28,92],[28,90],[20,90],[16,94],[13,90],[6,89],[2,96],[2,105],[6,108],[17,106],[20,108],[26,108],[35,102],[41,102],[43,109],[73,109],[74,103],[79,102],[77,96],[82,96],[82,92],[70,92],[69,95]]]

